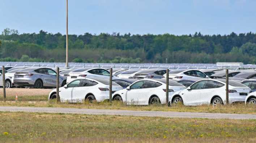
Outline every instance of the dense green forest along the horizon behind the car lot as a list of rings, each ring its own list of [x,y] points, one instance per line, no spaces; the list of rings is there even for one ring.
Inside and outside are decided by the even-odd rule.
[[[228,35],[120,34],[68,35],[69,61],[84,63],[256,64],[256,33]],[[0,35],[0,61],[64,62],[66,35],[23,33],[6,28]]]

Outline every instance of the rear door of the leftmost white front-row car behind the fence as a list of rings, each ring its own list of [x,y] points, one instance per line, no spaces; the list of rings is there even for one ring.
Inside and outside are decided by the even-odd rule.
[[[93,93],[93,90],[96,89],[96,88],[93,88],[93,86],[97,84],[98,84],[97,82],[94,82],[92,80],[81,79],[79,86],[74,87],[72,91],[73,100],[76,102],[83,102],[85,100],[85,96],[88,93]]]

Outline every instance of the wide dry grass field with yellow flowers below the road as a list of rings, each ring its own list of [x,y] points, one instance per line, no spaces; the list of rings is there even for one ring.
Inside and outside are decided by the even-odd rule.
[[[256,142],[256,120],[0,112],[0,142]]]

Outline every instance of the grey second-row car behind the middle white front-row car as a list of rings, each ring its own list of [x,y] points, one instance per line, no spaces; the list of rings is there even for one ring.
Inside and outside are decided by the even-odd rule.
[[[166,73],[165,69],[145,69],[140,70],[139,72],[133,75],[134,79],[149,79],[149,78],[163,78],[163,75]]]

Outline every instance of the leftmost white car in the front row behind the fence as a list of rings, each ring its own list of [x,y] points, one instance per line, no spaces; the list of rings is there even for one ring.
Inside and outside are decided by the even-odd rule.
[[[112,83],[112,92],[123,89]],[[85,100],[101,102],[109,99],[109,80],[106,79],[76,79],[59,88],[61,102],[84,102]],[[56,98],[56,89],[49,94],[49,100]]]

